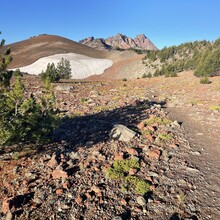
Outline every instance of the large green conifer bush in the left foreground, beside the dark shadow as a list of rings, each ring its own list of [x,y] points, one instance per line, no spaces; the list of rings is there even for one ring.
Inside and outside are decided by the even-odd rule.
[[[25,98],[21,76],[16,77],[13,88],[0,97],[0,146],[48,140],[57,122],[48,89],[39,101],[33,95]]]

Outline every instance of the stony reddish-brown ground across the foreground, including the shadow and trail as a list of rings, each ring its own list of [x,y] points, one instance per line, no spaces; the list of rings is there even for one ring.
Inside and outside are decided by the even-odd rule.
[[[57,84],[54,142],[1,152],[1,218],[219,219],[219,78],[186,74]]]

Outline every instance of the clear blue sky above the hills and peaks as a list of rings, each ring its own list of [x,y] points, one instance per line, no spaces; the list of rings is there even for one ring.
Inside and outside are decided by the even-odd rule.
[[[1,38],[144,33],[158,47],[220,37],[220,0],[2,0]]]

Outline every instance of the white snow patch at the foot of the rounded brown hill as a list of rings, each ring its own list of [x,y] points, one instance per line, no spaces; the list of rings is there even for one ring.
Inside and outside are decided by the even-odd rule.
[[[76,53],[67,53],[43,57],[28,66],[16,69],[20,69],[21,72],[38,75],[46,70],[48,63],[57,65],[62,57],[70,61],[72,79],[84,79],[92,75],[100,75],[113,64],[113,62],[108,59],[97,59]]]

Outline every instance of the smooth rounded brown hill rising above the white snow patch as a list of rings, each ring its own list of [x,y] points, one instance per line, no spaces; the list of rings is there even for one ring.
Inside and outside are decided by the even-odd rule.
[[[13,57],[9,68],[26,66],[39,58],[59,53],[78,53],[93,58],[106,58],[104,51],[55,35],[40,35],[6,47],[11,48]]]

